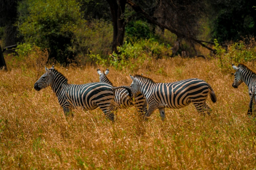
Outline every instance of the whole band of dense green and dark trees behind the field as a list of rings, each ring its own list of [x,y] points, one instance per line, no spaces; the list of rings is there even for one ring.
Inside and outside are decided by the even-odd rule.
[[[236,41],[241,36],[254,36],[254,3],[253,0],[1,0],[0,39],[2,48],[18,42],[48,49],[49,57],[60,63],[88,62],[97,54],[106,59],[112,52],[121,56],[122,50],[117,46],[124,41],[133,45],[144,39],[164,42],[165,48],[178,41],[182,50],[197,55],[195,44],[213,50],[203,40]],[[210,34],[202,36],[206,27]]]

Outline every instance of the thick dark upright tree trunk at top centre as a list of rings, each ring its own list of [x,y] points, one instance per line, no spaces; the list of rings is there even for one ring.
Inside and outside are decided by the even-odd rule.
[[[107,0],[110,5],[110,11],[113,24],[113,42],[112,51],[118,53],[117,46],[122,46],[125,36],[125,5],[127,0]]]

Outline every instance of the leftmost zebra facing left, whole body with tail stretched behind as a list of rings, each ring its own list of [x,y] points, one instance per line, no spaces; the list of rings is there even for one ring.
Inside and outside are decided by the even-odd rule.
[[[71,109],[93,110],[99,107],[107,118],[114,121],[113,95],[119,88],[125,88],[130,94],[127,86],[112,87],[108,83],[95,82],[87,84],[68,84],[68,79],[54,68],[45,67],[45,73],[36,81],[34,88],[40,91],[50,86],[63,108],[65,116]]]

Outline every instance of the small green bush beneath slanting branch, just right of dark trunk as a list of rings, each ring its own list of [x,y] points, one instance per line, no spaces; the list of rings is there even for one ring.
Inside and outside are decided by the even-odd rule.
[[[153,37],[149,24],[141,20],[128,22],[125,30],[127,36],[126,40],[128,42],[135,42],[139,39],[149,39]]]

